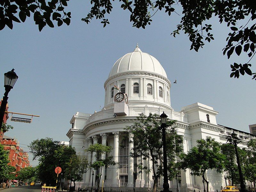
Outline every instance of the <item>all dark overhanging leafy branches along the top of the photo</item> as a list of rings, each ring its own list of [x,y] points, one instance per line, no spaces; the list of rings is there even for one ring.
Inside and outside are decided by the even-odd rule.
[[[13,28],[13,21],[25,22],[31,14],[34,16],[35,24],[38,25],[39,31],[48,25],[53,28],[52,21],[56,21],[58,26],[64,23],[70,24],[71,12],[66,12],[69,0],[0,0],[0,30],[5,26]],[[114,0],[113,0],[114,1]],[[249,63],[255,55],[256,35],[255,22],[256,4],[250,0],[156,0],[156,1],[128,1],[120,0],[121,8],[128,10],[130,21],[133,27],[145,28],[152,22],[153,16],[158,11],[164,11],[169,16],[174,12],[178,14],[179,5],[182,8],[180,24],[177,29],[172,32],[175,37],[184,31],[188,35],[191,42],[190,50],[198,51],[205,42],[214,40],[211,34],[212,25],[206,23],[212,17],[218,17],[219,22],[227,23],[230,27],[230,33],[227,37],[227,45],[223,49],[223,55],[227,54],[228,59],[236,52],[239,56],[242,52],[248,54],[250,60],[244,64],[234,63],[230,65],[232,73],[230,77],[239,78],[240,74],[252,75]],[[105,18],[106,13],[112,11],[112,3],[110,0],[91,0],[91,10],[82,21],[90,23],[94,17],[101,20],[103,27],[109,24],[109,20]],[[175,10],[176,9],[176,10]],[[19,12],[19,13],[18,13]],[[19,15],[19,16],[18,16]],[[179,14],[178,14],[179,15]],[[18,19],[18,17],[20,19]],[[240,24],[244,23],[244,24]],[[241,26],[240,26],[241,25]],[[256,80],[256,76],[253,79]]]

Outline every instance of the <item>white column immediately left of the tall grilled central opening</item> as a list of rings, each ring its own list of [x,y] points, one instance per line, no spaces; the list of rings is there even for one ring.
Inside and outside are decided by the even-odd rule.
[[[114,134],[114,149],[113,149],[113,161],[118,162],[118,148],[119,148],[119,132],[113,132]],[[119,186],[119,174],[118,165],[113,166],[112,185]]]

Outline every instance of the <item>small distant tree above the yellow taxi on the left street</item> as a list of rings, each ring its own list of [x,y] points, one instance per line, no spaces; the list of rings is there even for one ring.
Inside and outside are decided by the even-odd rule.
[[[35,181],[33,178],[36,178],[37,175],[37,169],[36,167],[25,167],[23,169],[20,169],[19,172],[17,172],[17,180],[21,181]]]

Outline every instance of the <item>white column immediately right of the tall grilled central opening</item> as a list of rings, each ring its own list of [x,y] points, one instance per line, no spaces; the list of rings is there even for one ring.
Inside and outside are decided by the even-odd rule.
[[[133,151],[133,142],[130,143],[130,141],[133,141],[133,134],[129,133],[129,157],[128,157],[128,183],[127,187],[133,187],[133,157],[130,156],[130,152]]]

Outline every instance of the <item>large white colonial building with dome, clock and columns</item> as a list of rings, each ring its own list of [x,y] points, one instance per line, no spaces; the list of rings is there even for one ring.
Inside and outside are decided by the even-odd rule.
[[[120,90],[116,90],[115,86]],[[92,163],[95,161],[94,154],[84,152],[84,149],[95,143],[112,147],[109,155],[113,155],[114,161],[118,161],[119,164],[102,170],[101,180],[108,185],[131,187],[134,183],[136,187],[148,187],[148,183],[153,185],[152,173],[149,173],[149,177],[145,173],[134,176],[133,173],[137,172],[134,167],[136,159],[129,156],[133,144],[129,144],[127,139],[122,139],[127,134],[124,128],[132,125],[139,113],[161,115],[164,111],[170,119],[177,120],[176,126],[178,133],[183,135],[185,152],[196,145],[196,140],[204,139],[206,136],[226,143],[226,139],[222,136],[233,131],[231,128],[217,124],[218,112],[207,105],[194,103],[183,107],[180,111],[174,111],[170,101],[171,82],[164,68],[155,57],[142,52],[138,45],[133,52],[125,54],[116,61],[104,83],[104,89],[105,106],[102,110],[93,114],[77,112],[70,121],[72,128],[68,130],[67,136],[69,144],[76,148],[76,152],[87,156]],[[121,93],[116,95],[118,92]],[[239,136],[248,135],[242,131],[234,131]],[[246,141],[243,140],[240,145],[244,145]],[[121,145],[124,147],[120,148]],[[82,182],[92,183],[92,171],[83,175]],[[208,170],[206,178],[210,181],[211,190],[220,190],[220,186],[225,186],[224,173],[218,174],[214,170]],[[191,176],[189,170],[181,171],[179,180],[181,186],[196,185],[202,188],[202,177]],[[160,183],[162,182],[160,180]],[[170,181],[170,185],[176,185],[176,180]]]

